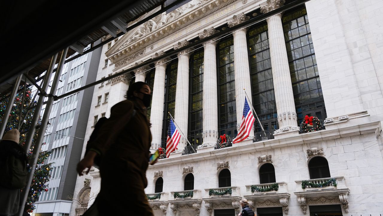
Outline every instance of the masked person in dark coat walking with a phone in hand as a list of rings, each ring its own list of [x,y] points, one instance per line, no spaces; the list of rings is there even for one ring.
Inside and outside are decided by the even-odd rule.
[[[110,118],[95,125],[85,156],[77,165],[80,176],[86,168],[88,173],[93,165],[100,167],[100,193],[83,216],[153,216],[144,191],[151,156],[151,124],[146,118],[151,89],[145,82],[134,82],[126,98],[111,108]],[[157,159],[151,165],[155,162]]]

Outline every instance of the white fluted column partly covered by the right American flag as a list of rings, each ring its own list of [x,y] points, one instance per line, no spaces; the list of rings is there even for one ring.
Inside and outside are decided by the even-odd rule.
[[[229,28],[249,20],[249,16],[244,13],[233,16],[233,20],[228,22]],[[241,124],[243,107],[245,104],[245,92],[249,96],[248,103],[252,105],[249,53],[247,53],[247,28],[242,28],[233,32],[234,37],[234,76],[236,84],[236,109],[237,109],[237,129]],[[254,129],[251,129],[249,137],[254,137]]]

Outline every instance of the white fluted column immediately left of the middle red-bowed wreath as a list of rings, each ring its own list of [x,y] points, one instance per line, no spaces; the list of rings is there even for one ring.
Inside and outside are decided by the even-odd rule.
[[[198,36],[203,39],[217,32],[211,27]],[[205,42],[203,54],[203,144],[213,145],[218,140],[216,43],[214,40]]]

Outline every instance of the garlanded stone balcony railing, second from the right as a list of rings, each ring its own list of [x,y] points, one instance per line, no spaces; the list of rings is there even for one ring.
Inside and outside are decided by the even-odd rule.
[[[246,193],[251,195],[264,195],[275,193],[287,193],[287,183],[265,183],[259,185],[246,185]]]

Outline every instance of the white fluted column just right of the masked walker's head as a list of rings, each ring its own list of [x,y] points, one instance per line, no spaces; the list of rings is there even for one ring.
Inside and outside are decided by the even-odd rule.
[[[155,53],[152,59],[162,56],[163,54],[165,54],[163,51]],[[164,117],[165,71],[169,59],[170,58],[160,59],[154,63],[155,75],[150,115],[150,123],[152,124],[152,149],[161,147],[162,120]]]

